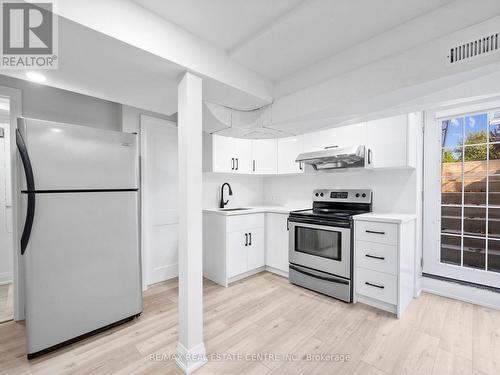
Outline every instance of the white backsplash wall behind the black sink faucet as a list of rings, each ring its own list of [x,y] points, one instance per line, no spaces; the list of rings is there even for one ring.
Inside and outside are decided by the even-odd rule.
[[[261,176],[242,176],[234,174],[203,173],[203,208],[218,207],[220,187],[229,182],[233,196],[224,188],[224,197],[229,198],[226,207],[261,206],[264,197],[264,182]]]

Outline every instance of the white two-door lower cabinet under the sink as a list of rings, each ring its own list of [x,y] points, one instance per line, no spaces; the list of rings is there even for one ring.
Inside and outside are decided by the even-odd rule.
[[[203,213],[204,277],[227,286],[264,266],[264,213]]]

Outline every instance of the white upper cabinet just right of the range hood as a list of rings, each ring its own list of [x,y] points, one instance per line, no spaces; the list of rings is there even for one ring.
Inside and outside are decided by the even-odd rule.
[[[365,124],[367,168],[415,168],[422,115],[410,113]]]

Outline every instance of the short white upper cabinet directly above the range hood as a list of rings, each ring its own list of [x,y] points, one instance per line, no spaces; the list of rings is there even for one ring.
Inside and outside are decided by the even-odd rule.
[[[365,143],[363,124],[306,133],[303,137],[304,152],[319,151],[330,147],[357,146]]]

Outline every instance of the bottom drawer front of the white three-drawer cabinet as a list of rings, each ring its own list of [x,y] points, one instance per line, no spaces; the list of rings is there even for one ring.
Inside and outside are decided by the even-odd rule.
[[[356,267],[356,293],[397,304],[397,276]]]

